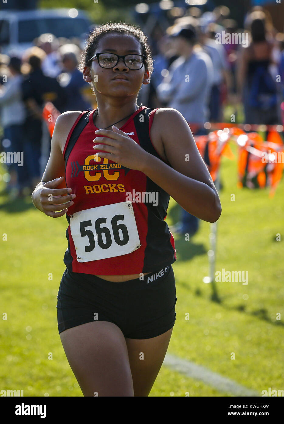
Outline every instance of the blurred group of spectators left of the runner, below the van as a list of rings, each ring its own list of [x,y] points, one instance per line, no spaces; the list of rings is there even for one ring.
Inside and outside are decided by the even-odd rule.
[[[60,113],[96,106],[91,86],[77,67],[80,45],[79,40],[75,44],[46,33],[22,57],[0,55],[1,152],[6,153],[4,177],[11,198],[30,194],[41,181],[51,141],[44,105],[51,102]],[[22,152],[20,166],[8,152]]]

